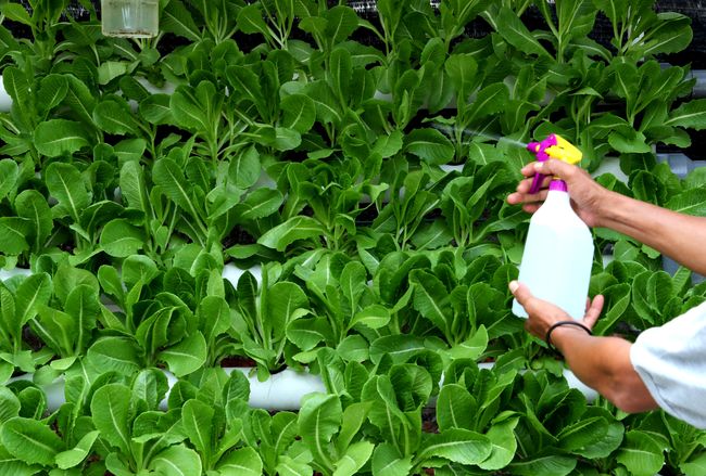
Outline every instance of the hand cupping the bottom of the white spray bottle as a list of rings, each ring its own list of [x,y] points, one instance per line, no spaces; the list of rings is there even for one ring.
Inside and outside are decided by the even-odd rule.
[[[512,281],[509,283],[509,291],[513,293],[517,301],[522,305],[528,314],[525,329],[530,334],[544,340],[546,331],[558,321],[572,320],[562,308],[554,306],[551,303],[539,299],[532,295],[530,290],[522,283]],[[585,314],[583,319],[578,321],[585,325],[589,330],[593,329],[595,321],[598,320],[603,304],[605,299],[602,295],[597,295],[593,300],[587,300]]]

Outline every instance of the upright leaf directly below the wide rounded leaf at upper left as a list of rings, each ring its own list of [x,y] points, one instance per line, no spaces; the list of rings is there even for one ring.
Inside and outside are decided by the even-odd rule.
[[[90,195],[78,169],[68,163],[54,162],[45,173],[49,193],[59,202],[52,208],[54,217],[70,216],[78,222],[84,209],[90,205]]]

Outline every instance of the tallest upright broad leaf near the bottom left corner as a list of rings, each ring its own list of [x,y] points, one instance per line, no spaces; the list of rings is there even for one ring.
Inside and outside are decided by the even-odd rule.
[[[108,384],[91,399],[93,425],[101,438],[127,453],[130,448],[130,389],[123,384]]]

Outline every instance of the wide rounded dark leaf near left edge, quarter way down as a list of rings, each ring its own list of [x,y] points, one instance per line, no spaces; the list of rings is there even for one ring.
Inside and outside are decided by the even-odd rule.
[[[49,119],[35,129],[37,152],[49,157],[73,154],[89,145],[86,127],[75,120]]]

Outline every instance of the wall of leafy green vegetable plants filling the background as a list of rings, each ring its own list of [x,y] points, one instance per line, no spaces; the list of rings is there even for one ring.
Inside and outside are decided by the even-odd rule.
[[[706,120],[688,66],[657,62],[691,40],[686,17],[651,1],[381,0],[369,22],[345,2],[168,0],[159,37],[126,40],[91,2],[88,22],[29,3],[0,4],[0,259],[29,269],[0,285],[4,472],[703,472],[706,434],[587,404],[507,291],[528,217],[504,198],[530,138],[564,134],[590,170],[619,157],[629,181],[605,186],[706,213],[706,175],[680,180],[653,152]],[[610,44],[590,37],[597,12]],[[494,33],[468,38],[471,22]],[[706,299],[655,250],[594,233],[596,333]],[[234,263],[262,271],[224,280]],[[249,408],[234,356],[327,394]]]

